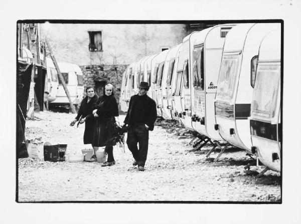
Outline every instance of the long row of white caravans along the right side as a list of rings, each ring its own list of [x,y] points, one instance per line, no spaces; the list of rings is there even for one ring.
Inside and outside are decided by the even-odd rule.
[[[146,81],[158,116],[280,171],[280,29],[279,23],[218,25],[145,56],[123,73],[121,110]]]

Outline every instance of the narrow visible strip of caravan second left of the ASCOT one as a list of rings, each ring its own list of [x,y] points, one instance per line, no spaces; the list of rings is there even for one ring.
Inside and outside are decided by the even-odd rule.
[[[172,103],[173,103],[173,113],[175,114],[175,117],[178,118],[180,124],[182,123],[182,117],[183,117],[183,108],[182,108],[182,89],[183,89],[183,44],[180,46],[177,56],[176,56],[176,73],[173,76],[174,84],[172,85]]]

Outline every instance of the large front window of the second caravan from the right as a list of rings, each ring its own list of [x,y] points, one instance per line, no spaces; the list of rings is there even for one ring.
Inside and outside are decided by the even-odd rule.
[[[233,99],[238,74],[238,62],[239,55],[223,55],[218,77],[217,100],[230,102]]]

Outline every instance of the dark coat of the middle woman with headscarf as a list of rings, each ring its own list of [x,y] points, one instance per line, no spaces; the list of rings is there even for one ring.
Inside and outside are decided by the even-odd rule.
[[[98,117],[95,118],[92,145],[97,147],[116,145],[115,117],[119,116],[119,112],[115,97],[104,94],[94,104],[94,109],[97,109]]]

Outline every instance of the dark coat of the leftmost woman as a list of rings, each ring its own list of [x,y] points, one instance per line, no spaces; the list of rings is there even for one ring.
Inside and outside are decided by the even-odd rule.
[[[95,128],[95,119],[94,116],[92,114],[93,111],[93,106],[94,104],[97,102],[98,100],[98,96],[94,95],[89,102],[88,101],[88,96],[86,96],[79,107],[77,116],[76,116],[76,120],[79,120],[80,116],[82,116],[82,118],[86,118],[85,121],[85,132],[84,132],[84,144],[92,144],[92,140],[93,140],[93,131]]]

